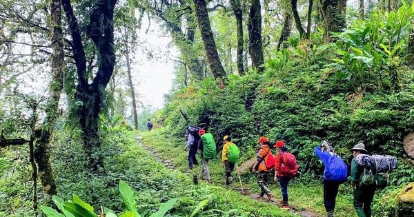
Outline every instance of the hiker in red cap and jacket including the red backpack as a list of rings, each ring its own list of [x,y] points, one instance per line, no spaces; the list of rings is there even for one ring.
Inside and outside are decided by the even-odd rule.
[[[279,153],[275,156],[275,182],[279,180],[280,189],[282,191],[283,200],[279,203],[282,209],[290,209],[288,203],[288,183],[290,179],[297,175],[297,169],[299,168],[296,163],[296,158],[293,154],[288,152],[288,149],[284,146],[283,141],[277,141],[276,145],[279,149]]]

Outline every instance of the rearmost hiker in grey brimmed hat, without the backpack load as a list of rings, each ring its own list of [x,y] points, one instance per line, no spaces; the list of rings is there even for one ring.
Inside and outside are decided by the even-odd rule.
[[[373,202],[375,194],[375,182],[373,182],[371,185],[364,185],[362,183],[362,176],[364,176],[366,169],[364,169],[362,166],[359,166],[356,160],[359,154],[368,154],[368,152],[366,151],[365,145],[363,143],[358,143],[355,145],[353,148],[351,148],[351,152],[353,152],[354,157],[351,161],[351,180],[353,181],[354,187],[353,205],[357,211],[358,217],[371,217],[371,203]]]

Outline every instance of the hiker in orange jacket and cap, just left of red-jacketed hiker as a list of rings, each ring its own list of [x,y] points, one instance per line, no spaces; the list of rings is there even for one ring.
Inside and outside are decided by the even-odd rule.
[[[262,198],[264,194],[266,194],[266,196],[268,196],[269,201],[273,197],[273,194],[267,187],[268,174],[269,170],[275,167],[275,159],[273,158],[273,154],[270,151],[268,138],[262,136],[259,138],[259,141],[257,141],[257,143],[259,143],[260,149],[256,154],[257,159],[252,167],[252,172],[259,172],[257,183],[259,184],[260,189],[262,189],[259,198]]]

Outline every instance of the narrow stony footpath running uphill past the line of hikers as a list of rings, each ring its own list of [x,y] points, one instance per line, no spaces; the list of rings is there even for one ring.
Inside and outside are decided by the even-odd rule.
[[[168,159],[163,158],[161,156],[161,154],[158,154],[157,152],[155,152],[154,149],[151,149],[150,147],[148,147],[147,145],[145,145],[141,141],[141,136],[137,136],[136,139],[137,139],[138,145],[140,145],[141,147],[143,147],[144,149],[146,149],[146,151],[150,155],[152,155],[154,158],[156,158],[165,167],[167,167],[170,170],[175,170],[176,169],[172,165],[172,161],[171,160],[168,160]],[[180,171],[180,172],[182,172],[182,173],[184,173],[186,175],[189,175],[188,172],[183,172],[183,171]],[[211,184],[211,185],[214,185],[214,184]],[[277,206],[279,206],[278,201],[277,201],[276,198],[271,198],[270,201],[267,201],[267,198],[259,198],[259,194],[250,192],[248,188],[243,189],[243,192],[242,192],[242,189],[240,189],[240,188],[233,188],[233,190],[235,190],[237,192],[240,192],[240,194],[242,194],[246,198],[250,198],[252,200],[255,200],[255,201],[258,201],[258,202],[262,202],[262,203],[270,203],[271,205],[277,205]],[[312,211],[302,210],[302,208],[295,207],[295,206],[292,206],[292,205],[291,205],[291,208],[289,209],[289,211],[291,213],[299,214],[302,217],[319,217],[319,216],[321,216],[319,214],[313,213]]]

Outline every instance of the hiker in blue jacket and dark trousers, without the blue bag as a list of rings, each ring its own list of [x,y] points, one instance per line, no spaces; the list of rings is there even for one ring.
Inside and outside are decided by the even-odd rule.
[[[333,149],[331,145],[324,141],[322,145],[315,147],[315,154],[316,156],[322,160],[324,163],[325,169],[326,165],[328,165],[329,158],[333,156]],[[336,196],[338,194],[340,182],[326,180],[325,173],[322,176],[323,183],[324,183],[324,205],[326,209],[326,214],[328,217],[333,217],[335,212],[335,204],[336,204]]]

